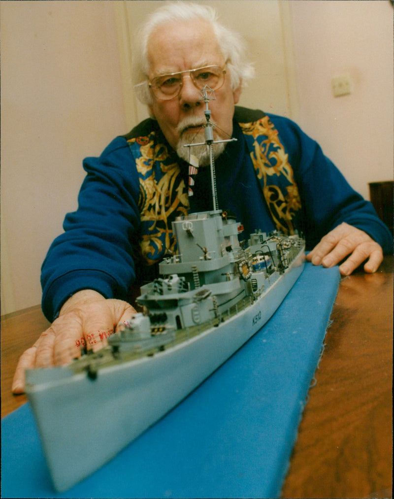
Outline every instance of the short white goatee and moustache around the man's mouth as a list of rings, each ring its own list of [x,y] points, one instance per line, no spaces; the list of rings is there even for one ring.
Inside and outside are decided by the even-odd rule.
[[[201,130],[199,130],[197,133],[195,130],[188,130],[187,127],[190,127],[192,125],[200,125]],[[198,144],[205,141],[204,126],[201,124],[201,120],[194,117],[185,118],[178,125],[178,131],[181,133],[181,138],[179,139],[177,144],[178,156],[189,163],[190,156],[191,154],[193,154],[193,156],[196,156],[198,158],[199,166],[209,165],[209,149],[205,144],[201,146],[184,147],[187,144]],[[222,140],[215,128],[213,128],[213,138],[214,140]],[[220,144],[212,144],[212,155],[214,159],[220,156],[220,154],[224,151],[225,145],[225,142],[221,142]]]

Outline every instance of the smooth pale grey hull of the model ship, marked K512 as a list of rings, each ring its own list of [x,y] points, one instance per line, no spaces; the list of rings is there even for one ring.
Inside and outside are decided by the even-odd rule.
[[[301,251],[235,316],[153,357],[102,367],[94,380],[64,368],[28,371],[26,391],[55,488],[97,470],[193,391],[264,325],[303,266]]]

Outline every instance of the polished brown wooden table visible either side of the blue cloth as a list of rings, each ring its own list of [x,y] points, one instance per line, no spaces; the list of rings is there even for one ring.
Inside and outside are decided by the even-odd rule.
[[[331,319],[283,497],[392,497],[393,258],[342,279]],[[2,317],[1,417],[26,401],[13,371],[47,326],[39,306]]]

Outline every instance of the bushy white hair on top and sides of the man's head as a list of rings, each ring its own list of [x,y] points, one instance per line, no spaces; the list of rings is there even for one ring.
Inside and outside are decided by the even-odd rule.
[[[220,24],[217,17],[216,10],[211,6],[182,0],[167,3],[148,16],[137,34],[133,54],[133,82],[141,102],[144,104],[152,103],[148,87],[148,42],[159,24],[190,21],[196,18],[209,22],[227,63],[231,89],[236,90],[240,84],[245,85],[247,80],[253,77],[254,68],[246,56],[244,40],[238,33]]]

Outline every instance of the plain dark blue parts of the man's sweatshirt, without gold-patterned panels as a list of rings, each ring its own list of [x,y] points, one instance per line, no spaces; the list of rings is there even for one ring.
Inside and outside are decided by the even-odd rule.
[[[215,162],[219,208],[236,214],[245,228],[245,237],[255,229],[269,232],[274,228],[250,159],[250,143],[238,125],[262,116],[261,111],[237,108],[233,135],[238,140],[228,144]],[[297,213],[297,225],[305,234],[307,249],[311,250],[334,227],[347,222],[369,234],[385,252],[392,252],[390,231],[379,220],[372,204],[349,186],[319,145],[291,120],[274,115],[269,118],[279,133],[301,195],[302,216]],[[154,120],[146,120],[131,135],[144,136],[152,130],[157,133],[159,144],[165,141]],[[86,158],[83,166],[87,176],[79,194],[78,210],[66,216],[65,233],[53,242],[42,265],[42,309],[49,321],[66,299],[80,289],[94,289],[106,298],[128,300],[137,273],[137,282],[144,279],[144,272],[147,280],[156,277],[155,268],[145,267],[139,259],[137,247],[144,230],[138,208],[140,179],[127,137],[116,138],[99,158]],[[187,186],[186,163],[183,166]],[[200,169],[191,198],[192,212],[210,209],[209,186],[208,170]],[[167,223],[171,226],[171,221]]]

